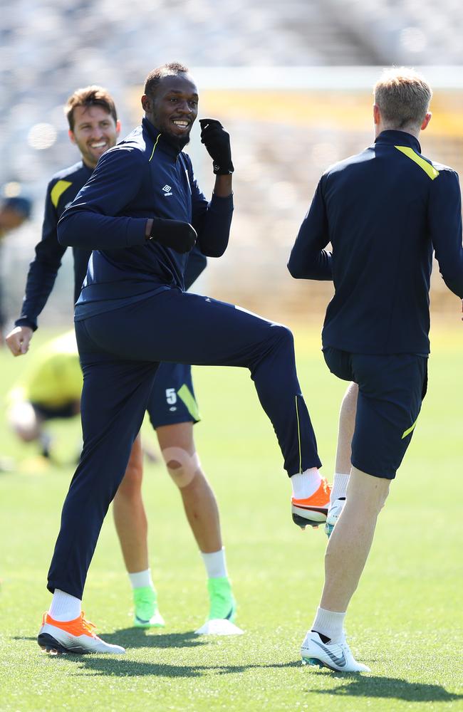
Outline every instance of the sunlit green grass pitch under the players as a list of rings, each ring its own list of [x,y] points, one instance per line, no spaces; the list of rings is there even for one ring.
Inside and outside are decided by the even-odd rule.
[[[34,337],[34,345],[49,334]],[[430,388],[405,463],[392,485],[347,618],[350,644],[372,673],[342,676],[301,666],[299,646],[323,580],[323,530],[291,522],[290,485],[271,425],[247,372],[196,368],[198,451],[219,500],[241,637],[198,638],[207,597],[202,561],[180,497],[160,464],[146,464],[145,506],[160,609],[167,627],[130,627],[131,595],[108,515],[85,590],[87,617],[127,655],[50,658],[36,644],[48,607],[46,572],[73,466],[31,467],[2,417],[0,454],[0,710],[447,711],[463,709],[462,325],[437,323]],[[319,350],[319,327],[296,328],[303,392],[323,472],[333,473],[345,384]],[[30,357],[30,355],[28,356]],[[1,395],[25,360],[0,352]],[[53,425],[63,461],[78,422]],[[145,427],[145,437],[154,434]],[[84,525],[84,524],[83,524]]]

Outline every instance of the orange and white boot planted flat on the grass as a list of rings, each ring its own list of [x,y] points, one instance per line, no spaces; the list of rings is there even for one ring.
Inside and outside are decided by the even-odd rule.
[[[111,645],[95,635],[95,625],[85,620],[81,613],[73,621],[56,621],[48,612],[43,614],[42,627],[38,632],[37,642],[41,649],[50,655],[74,653],[112,653],[122,655],[125,648]]]

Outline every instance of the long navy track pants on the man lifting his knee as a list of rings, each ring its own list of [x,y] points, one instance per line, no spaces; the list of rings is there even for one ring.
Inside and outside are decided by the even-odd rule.
[[[288,475],[321,466],[285,326],[178,289],[76,322],[83,451],[66,496],[48,590],[82,598],[160,361],[249,368]]]

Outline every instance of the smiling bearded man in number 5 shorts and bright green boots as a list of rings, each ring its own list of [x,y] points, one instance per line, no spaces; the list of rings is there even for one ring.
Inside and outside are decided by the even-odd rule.
[[[41,241],[36,245],[36,253],[29,266],[21,316],[6,337],[15,356],[28,351],[37,329],[38,316],[51,294],[66,251],[66,246],[58,242],[58,220],[90,178],[100,156],[115,146],[120,132],[114,100],[102,87],[91,85],[73,92],[66,103],[65,113],[69,137],[80,151],[81,160],[56,173],[48,183]],[[80,295],[89,258],[90,250],[73,248],[74,302]],[[195,247],[189,253],[184,276],[185,288],[192,286],[206,263],[199,248]],[[162,454],[168,454],[172,447],[186,449],[194,454],[193,424],[198,422],[199,413],[189,365],[160,365],[147,412],[156,430]],[[46,438],[43,447],[48,449]],[[175,472],[171,473],[175,479]],[[227,576],[217,501],[200,464],[194,481],[189,486],[180,483],[179,489],[207,570],[209,619],[231,619],[236,606]],[[147,516],[142,501],[140,437],[135,439],[132,446],[125,476],[114,498],[113,514],[132,585],[134,625],[144,628],[162,625],[164,621],[157,607],[157,594],[148,557]]]

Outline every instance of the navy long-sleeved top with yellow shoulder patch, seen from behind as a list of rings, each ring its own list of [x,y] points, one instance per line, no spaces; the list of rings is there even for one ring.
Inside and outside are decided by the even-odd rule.
[[[387,130],[323,174],[288,269],[333,278],[323,346],[427,354],[433,250],[444,282],[463,298],[457,173],[423,157],[409,133]]]

